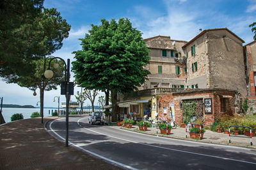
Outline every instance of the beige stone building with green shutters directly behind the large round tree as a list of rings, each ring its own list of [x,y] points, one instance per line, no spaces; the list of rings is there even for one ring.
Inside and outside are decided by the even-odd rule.
[[[184,88],[186,58],[182,46],[187,42],[172,40],[170,36],[154,36],[144,39],[151,57],[146,69],[148,80],[140,89]]]

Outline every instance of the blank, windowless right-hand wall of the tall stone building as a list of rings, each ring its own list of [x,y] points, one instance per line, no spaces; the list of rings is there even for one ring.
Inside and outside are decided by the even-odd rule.
[[[207,33],[211,73],[210,87],[234,89],[245,97],[247,92],[242,42],[235,42],[225,35],[228,35],[227,31],[223,32],[222,36],[218,31]]]

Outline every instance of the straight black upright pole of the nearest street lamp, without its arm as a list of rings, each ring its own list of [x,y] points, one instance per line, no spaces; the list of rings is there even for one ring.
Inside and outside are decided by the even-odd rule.
[[[70,59],[67,63],[67,77],[66,77],[66,147],[68,147],[68,107],[69,107],[69,65]]]

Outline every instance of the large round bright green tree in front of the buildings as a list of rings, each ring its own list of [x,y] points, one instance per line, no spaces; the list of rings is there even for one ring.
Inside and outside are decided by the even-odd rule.
[[[145,82],[149,50],[129,19],[101,22],[81,39],[82,50],[74,52],[72,70],[80,86],[111,92],[112,121],[116,121],[117,93],[136,90]]]

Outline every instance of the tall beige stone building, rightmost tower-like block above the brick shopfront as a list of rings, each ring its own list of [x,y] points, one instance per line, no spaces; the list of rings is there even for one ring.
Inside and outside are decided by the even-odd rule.
[[[244,41],[227,28],[205,29],[182,48],[186,52],[186,86],[239,91],[246,97]]]

